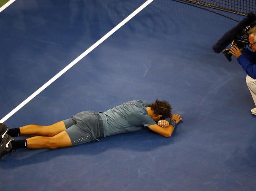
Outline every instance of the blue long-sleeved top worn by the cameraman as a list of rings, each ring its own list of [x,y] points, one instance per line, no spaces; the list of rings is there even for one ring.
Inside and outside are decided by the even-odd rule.
[[[247,75],[256,79],[256,54],[247,48],[243,49],[241,52],[242,55],[238,56],[237,61]]]

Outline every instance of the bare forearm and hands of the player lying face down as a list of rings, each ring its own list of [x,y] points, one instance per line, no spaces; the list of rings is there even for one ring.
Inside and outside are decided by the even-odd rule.
[[[176,115],[173,115],[171,117],[171,120],[175,120],[176,124],[177,124],[178,122],[180,122],[182,120],[182,118],[180,117],[180,115],[176,114]],[[170,137],[173,134],[174,127],[173,127],[173,125],[169,124],[169,122],[168,122],[168,126],[162,127],[165,124],[167,124],[167,122],[168,121],[161,120],[161,123],[158,123],[161,126],[159,126],[159,125],[150,125],[150,126],[148,126],[148,128],[151,129],[152,131],[162,135],[162,136]]]

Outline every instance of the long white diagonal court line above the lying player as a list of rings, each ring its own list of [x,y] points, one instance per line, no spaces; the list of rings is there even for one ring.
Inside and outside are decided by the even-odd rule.
[[[20,108],[25,106],[30,100],[32,100],[35,96],[37,96],[41,91],[43,91],[46,87],[48,87],[52,82],[57,80],[61,75],[63,75],[66,71],[68,71],[73,65],[79,62],[83,57],[89,54],[93,49],[95,49],[98,45],[100,45],[104,40],[106,40],[109,36],[111,36],[115,31],[122,27],[122,25],[126,24],[130,19],[132,19],[135,15],[137,15],[142,9],[147,7],[154,0],[147,0],[143,5],[141,5],[138,9],[136,9],[131,15],[127,16],[121,23],[116,25],[111,31],[109,31],[106,35],[104,35],[100,40],[98,40],[95,44],[89,47],[86,51],[82,53],[82,55],[78,56],[75,60],[73,60],[69,65],[67,65],[64,69],[62,69],[58,74],[53,76],[48,82],[46,82],[42,87],[40,87],[37,91],[35,91],[31,96],[26,98],[19,106],[15,107],[10,113],[8,113],[4,118],[0,120],[0,123],[5,122],[8,118],[10,118],[13,114],[19,111]]]

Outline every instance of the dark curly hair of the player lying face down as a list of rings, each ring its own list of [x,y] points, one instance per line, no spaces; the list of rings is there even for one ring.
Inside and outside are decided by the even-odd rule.
[[[156,101],[149,105],[156,115],[162,115],[161,119],[172,116],[172,107],[167,101]]]

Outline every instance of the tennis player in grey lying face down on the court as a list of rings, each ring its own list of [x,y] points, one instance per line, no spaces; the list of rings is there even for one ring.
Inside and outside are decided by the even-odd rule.
[[[105,112],[83,111],[70,119],[50,126],[28,125],[9,129],[0,124],[0,159],[19,148],[56,149],[75,146],[101,137],[130,133],[148,127],[152,131],[170,137],[180,115],[171,114],[167,101],[156,100],[148,104],[142,100],[126,102]],[[14,140],[16,136],[33,136]]]

